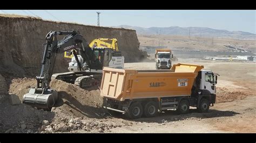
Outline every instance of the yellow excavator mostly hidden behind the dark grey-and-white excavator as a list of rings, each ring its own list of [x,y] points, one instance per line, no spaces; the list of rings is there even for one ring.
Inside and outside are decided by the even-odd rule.
[[[91,41],[91,43],[89,44],[89,46],[93,49],[93,48],[110,48],[112,49],[114,52],[118,52],[118,45],[117,45],[117,39],[113,38],[113,39],[109,39],[109,38],[98,38],[98,39],[94,39]],[[66,51],[64,53],[64,57],[65,58],[69,58],[72,59],[73,58],[73,54],[71,51]]]

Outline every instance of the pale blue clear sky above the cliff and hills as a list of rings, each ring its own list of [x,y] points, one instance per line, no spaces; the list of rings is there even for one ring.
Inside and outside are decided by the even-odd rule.
[[[45,20],[139,27],[209,27],[256,34],[256,10],[0,10],[0,13],[39,16]]]

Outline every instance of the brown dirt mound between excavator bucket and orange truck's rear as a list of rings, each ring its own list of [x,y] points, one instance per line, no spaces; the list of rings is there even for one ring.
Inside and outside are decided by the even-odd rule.
[[[51,81],[50,87],[58,91],[57,108],[68,115],[97,117],[102,111],[103,100],[97,88],[89,91],[60,80]]]

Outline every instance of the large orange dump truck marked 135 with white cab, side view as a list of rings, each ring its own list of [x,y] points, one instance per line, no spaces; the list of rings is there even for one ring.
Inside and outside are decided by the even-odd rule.
[[[204,66],[178,63],[171,70],[103,68],[100,96],[111,114],[131,119],[154,117],[174,109],[188,113],[190,106],[207,112],[216,99],[217,75]]]

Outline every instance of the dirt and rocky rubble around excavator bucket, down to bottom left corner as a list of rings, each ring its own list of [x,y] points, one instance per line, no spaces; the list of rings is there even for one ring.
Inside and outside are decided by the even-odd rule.
[[[33,78],[11,80],[9,94],[21,100],[29,88],[36,87]],[[53,132],[107,132],[123,124],[114,123],[102,106],[97,87],[81,89],[64,81],[53,80],[51,88],[58,91],[58,102],[51,111],[39,110],[29,105],[10,105],[6,99],[0,120],[0,131],[6,133],[53,133]],[[110,119],[110,120],[109,120]],[[47,121],[44,121],[47,120]],[[46,122],[46,123],[45,123]]]

